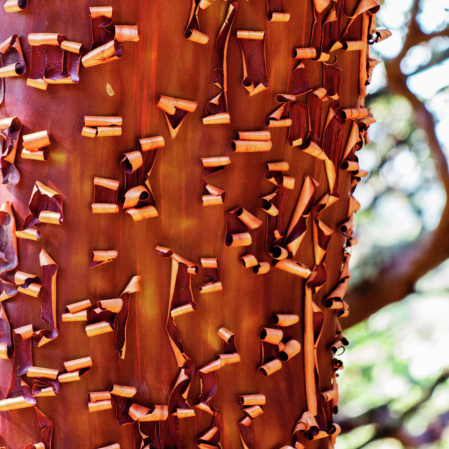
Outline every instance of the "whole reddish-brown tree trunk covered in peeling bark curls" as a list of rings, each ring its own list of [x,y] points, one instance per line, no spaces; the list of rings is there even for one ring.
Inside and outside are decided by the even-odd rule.
[[[333,447],[377,1],[100,3],[0,13],[0,446]]]

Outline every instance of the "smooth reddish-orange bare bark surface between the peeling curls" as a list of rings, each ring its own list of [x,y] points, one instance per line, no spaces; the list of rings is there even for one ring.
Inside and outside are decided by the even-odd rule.
[[[109,4],[102,2],[103,4]],[[271,130],[273,147],[267,153],[232,154],[229,141],[235,131],[264,129],[267,115],[277,107],[274,95],[289,91],[295,62],[293,47],[310,43],[313,21],[312,2],[297,5],[286,2],[291,13],[289,22],[268,23],[263,1],[240,1],[227,52],[229,125],[204,126],[203,105],[219,93],[212,83],[212,55],[215,37],[223,23],[228,4],[213,3],[200,11],[202,32],[210,36],[206,45],[185,40],[189,18],[189,1],[112,1],[113,22],[139,25],[140,41],[125,42],[120,60],[97,67],[80,67],[80,81],[74,85],[50,85],[46,91],[26,86],[24,77],[5,80],[2,117],[17,116],[23,123],[22,133],[47,129],[50,134],[48,161],[37,162],[16,157],[20,182],[13,188],[0,186],[1,202],[11,201],[19,226],[28,213],[28,201],[36,180],[63,196],[64,223],[60,226],[39,225],[40,241],[18,239],[18,269],[39,273],[41,248],[59,264],[57,276],[58,337],[47,345],[33,347],[36,366],[62,367],[65,360],[91,355],[93,367],[80,382],[63,384],[54,398],[39,398],[39,409],[54,422],[53,448],[98,448],[119,443],[121,448],[137,448],[140,436],[135,424],[119,427],[112,410],[89,414],[87,392],[101,391],[113,383],[137,387],[133,401],[151,406],[167,404],[179,374],[165,330],[170,292],[171,263],[156,252],[156,245],[172,248],[187,259],[200,264],[200,257],[218,257],[222,292],[199,294],[206,283],[200,273],[192,277],[195,312],[178,317],[185,352],[195,367],[209,363],[221,351],[217,330],[222,326],[235,333],[241,362],[217,373],[218,391],[211,404],[219,409],[223,420],[223,448],[241,446],[237,422],[243,418],[235,404],[240,394],[266,395],[264,414],[251,425],[255,448],[280,448],[291,444],[291,433],[306,410],[302,352],[269,377],[256,372],[261,362],[260,327],[271,325],[276,312],[299,314],[292,337],[302,344],[304,280],[274,267],[256,276],[244,269],[238,257],[241,248],[225,247],[224,214],[238,206],[265,216],[257,208],[257,199],[271,192],[263,178],[264,163],[285,160],[287,173],[296,178],[289,193],[286,217],[295,207],[305,174],[319,183],[316,198],[328,191],[322,161],[301,154],[287,143],[287,128]],[[91,31],[88,6],[91,1],[76,2],[33,0],[20,13],[0,11],[0,41],[18,33],[25,62],[29,69],[29,32],[59,32],[67,39],[90,47]],[[347,2],[348,9],[351,2]],[[242,87],[241,52],[235,38],[236,29],[266,30],[266,62],[269,88],[249,97]],[[340,57],[341,53],[341,57]],[[341,107],[356,107],[359,95],[358,51],[343,54],[338,50],[337,65],[341,75]],[[312,87],[322,84],[321,64],[311,69]],[[25,75],[26,76],[26,75]],[[109,86],[109,87],[108,87]],[[111,95],[113,91],[113,94]],[[109,92],[109,93],[108,93]],[[170,139],[164,114],[156,107],[159,96],[169,95],[198,101],[189,113],[175,140]],[[303,100],[305,101],[305,100]],[[120,137],[89,139],[81,136],[84,115],[123,116]],[[150,177],[159,217],[133,222],[120,210],[118,214],[92,215],[93,178],[120,180],[123,172],[120,156],[136,148],[136,140],[162,134],[166,145],[158,155]],[[21,140],[19,149],[21,148]],[[227,155],[231,164],[213,175],[210,182],[226,191],[225,205],[204,208],[201,203],[201,157]],[[346,220],[350,176],[340,173],[340,200],[329,207],[321,220],[334,230],[328,248],[328,278],[314,296],[321,304],[337,283],[344,238],[338,226]],[[264,226],[264,225],[263,225]],[[264,241],[258,242],[260,248]],[[115,261],[95,269],[89,268],[94,249],[116,249]],[[269,260],[269,255],[265,254]],[[313,266],[311,224],[296,260]],[[142,291],[133,295],[127,325],[127,351],[120,360],[114,350],[114,334],[88,338],[85,323],[62,323],[66,304],[91,299],[116,298],[129,279],[142,275]],[[39,325],[40,303],[23,294],[4,304],[11,328],[33,323]],[[318,347],[320,389],[331,388],[332,356],[329,346],[335,336],[335,314],[324,309],[325,325]],[[6,392],[11,364],[0,364],[1,393]],[[189,401],[199,394],[199,381],[193,378]],[[213,417],[197,410],[195,418],[181,420],[183,447],[194,448],[195,440],[212,426]],[[24,409],[0,413],[0,445],[21,449],[39,441],[35,412]],[[328,439],[310,447],[327,448]]]

